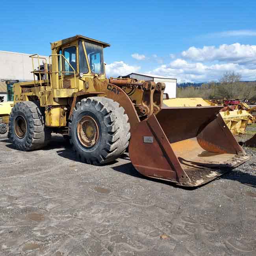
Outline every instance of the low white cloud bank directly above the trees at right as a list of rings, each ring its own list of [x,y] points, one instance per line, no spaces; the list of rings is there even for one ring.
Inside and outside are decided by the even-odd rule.
[[[168,65],[161,65],[149,73],[177,78],[178,82],[204,82],[218,80],[226,71],[239,72],[243,80],[256,80],[256,69],[249,69],[238,63],[217,63],[205,65],[175,59]]]

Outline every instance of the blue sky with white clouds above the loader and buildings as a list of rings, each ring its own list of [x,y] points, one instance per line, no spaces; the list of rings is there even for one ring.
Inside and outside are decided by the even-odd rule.
[[[82,34],[111,44],[108,76],[149,72],[179,82],[226,71],[256,80],[256,1],[2,1],[0,50],[50,54]]]

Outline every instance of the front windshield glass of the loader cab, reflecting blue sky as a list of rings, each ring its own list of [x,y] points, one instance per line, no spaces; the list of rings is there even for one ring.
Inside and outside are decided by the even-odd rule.
[[[85,42],[85,49],[92,73],[104,74],[103,47]]]

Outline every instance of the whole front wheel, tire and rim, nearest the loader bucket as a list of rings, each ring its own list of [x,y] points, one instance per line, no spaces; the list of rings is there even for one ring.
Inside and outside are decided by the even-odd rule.
[[[109,98],[83,99],[74,108],[69,136],[80,161],[93,165],[108,163],[129,145],[128,116],[119,103]]]

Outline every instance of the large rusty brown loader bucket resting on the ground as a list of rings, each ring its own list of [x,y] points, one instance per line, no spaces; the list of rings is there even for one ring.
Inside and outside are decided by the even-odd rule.
[[[139,173],[199,186],[249,157],[219,115],[220,106],[163,108],[133,129],[129,154]]]

